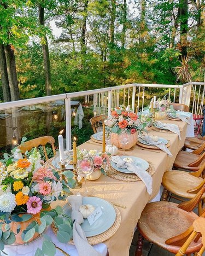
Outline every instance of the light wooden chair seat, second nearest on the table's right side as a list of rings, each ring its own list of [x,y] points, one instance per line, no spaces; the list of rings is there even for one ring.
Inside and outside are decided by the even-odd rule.
[[[196,194],[187,193],[186,191],[193,189],[200,185],[203,179],[190,175],[189,172],[185,171],[167,171],[163,174],[162,185],[171,193],[192,199]],[[201,199],[205,198],[205,193]]]

